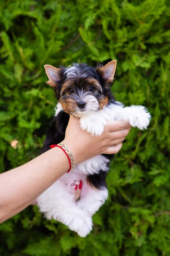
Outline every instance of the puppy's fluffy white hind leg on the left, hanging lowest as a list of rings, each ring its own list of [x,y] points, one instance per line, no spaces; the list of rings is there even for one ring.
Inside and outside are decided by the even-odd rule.
[[[79,236],[85,237],[92,230],[91,216],[76,206],[74,195],[59,181],[40,195],[38,207],[46,218],[62,222]]]

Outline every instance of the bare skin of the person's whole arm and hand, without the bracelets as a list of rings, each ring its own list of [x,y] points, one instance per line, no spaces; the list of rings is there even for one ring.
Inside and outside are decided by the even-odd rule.
[[[130,128],[127,121],[109,121],[101,136],[92,137],[80,128],[79,119],[71,116],[62,142],[73,153],[75,164],[79,164],[102,153],[118,153]],[[35,202],[68,169],[65,153],[55,147],[22,166],[0,174],[0,223]]]

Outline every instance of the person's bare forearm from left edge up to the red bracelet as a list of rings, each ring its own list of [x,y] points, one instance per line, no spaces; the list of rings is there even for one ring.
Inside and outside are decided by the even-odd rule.
[[[69,168],[60,148],[0,175],[0,222],[22,211]]]

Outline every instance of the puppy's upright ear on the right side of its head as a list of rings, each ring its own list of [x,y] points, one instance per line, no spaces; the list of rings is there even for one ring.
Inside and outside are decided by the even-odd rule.
[[[116,60],[110,61],[104,67],[101,68],[101,70],[104,74],[104,78],[108,82],[113,82],[114,75],[115,75],[115,70],[116,70],[116,63],[117,63]]]

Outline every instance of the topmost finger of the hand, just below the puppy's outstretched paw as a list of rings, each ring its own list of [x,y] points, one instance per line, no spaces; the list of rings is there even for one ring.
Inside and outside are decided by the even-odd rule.
[[[109,132],[117,132],[130,127],[129,122],[125,120],[108,121],[106,124],[106,129],[108,129]]]

